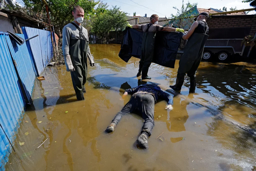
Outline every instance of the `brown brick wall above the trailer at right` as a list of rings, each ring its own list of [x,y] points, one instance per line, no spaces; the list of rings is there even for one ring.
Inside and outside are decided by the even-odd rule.
[[[250,35],[256,33],[256,15],[212,16],[207,24],[211,29],[251,27]]]

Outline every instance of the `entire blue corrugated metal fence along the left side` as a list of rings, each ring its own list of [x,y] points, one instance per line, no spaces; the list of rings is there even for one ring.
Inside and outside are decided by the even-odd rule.
[[[22,38],[39,36],[18,45],[8,33],[0,32],[0,170],[12,151],[8,139],[13,143],[25,104],[32,103],[35,77],[53,57],[49,31],[22,29],[25,35],[17,34]]]

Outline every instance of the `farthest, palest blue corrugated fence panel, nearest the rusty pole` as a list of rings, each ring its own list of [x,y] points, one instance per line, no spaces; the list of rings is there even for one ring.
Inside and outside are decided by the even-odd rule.
[[[39,76],[53,57],[51,34],[46,30],[29,27],[22,27],[22,31],[25,35],[25,39],[37,34],[39,35],[26,42],[30,55],[32,56],[31,59],[36,66],[36,75]]]

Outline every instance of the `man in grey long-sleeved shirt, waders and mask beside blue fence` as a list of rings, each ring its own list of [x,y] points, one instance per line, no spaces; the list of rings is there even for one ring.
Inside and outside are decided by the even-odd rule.
[[[81,25],[84,18],[84,10],[75,6],[72,11],[74,21],[65,25],[62,30],[62,51],[66,69],[70,71],[77,100],[84,100],[86,93],[84,84],[87,79],[87,57],[90,65],[94,66],[89,48],[87,30]]]

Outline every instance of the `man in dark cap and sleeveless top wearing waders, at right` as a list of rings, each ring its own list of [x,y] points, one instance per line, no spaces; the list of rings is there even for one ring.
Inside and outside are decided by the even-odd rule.
[[[188,40],[184,53],[179,61],[178,74],[176,84],[170,86],[175,91],[180,91],[184,82],[184,77],[190,77],[190,93],[195,93],[196,89],[196,70],[201,62],[204,45],[208,38],[208,25],[206,23],[209,14],[202,12],[194,20],[191,28],[182,36],[184,40]]]

